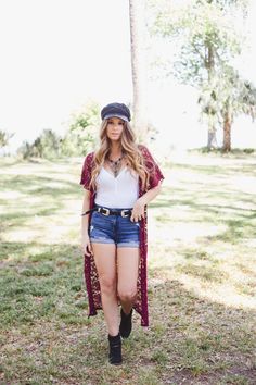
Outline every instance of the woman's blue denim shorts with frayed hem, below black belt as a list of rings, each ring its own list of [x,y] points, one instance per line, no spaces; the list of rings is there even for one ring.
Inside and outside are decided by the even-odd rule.
[[[130,216],[106,216],[100,212],[93,211],[90,221],[89,237],[91,244],[114,244],[117,247],[139,247],[140,222],[131,222]]]

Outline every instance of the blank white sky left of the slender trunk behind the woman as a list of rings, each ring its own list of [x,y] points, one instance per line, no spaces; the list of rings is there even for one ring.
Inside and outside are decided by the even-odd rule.
[[[28,139],[88,99],[131,100],[127,14],[123,0],[0,1],[1,128]]]

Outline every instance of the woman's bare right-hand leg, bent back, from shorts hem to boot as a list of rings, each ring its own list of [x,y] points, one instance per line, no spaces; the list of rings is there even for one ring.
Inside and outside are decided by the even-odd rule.
[[[139,248],[117,248],[117,293],[120,298],[123,310],[126,314],[130,312],[137,297],[139,261]]]

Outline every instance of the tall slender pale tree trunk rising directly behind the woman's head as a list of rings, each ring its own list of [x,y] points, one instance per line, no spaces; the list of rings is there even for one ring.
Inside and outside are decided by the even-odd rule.
[[[133,127],[140,141],[146,141],[146,65],[145,65],[145,0],[129,0],[130,50],[133,86]]]

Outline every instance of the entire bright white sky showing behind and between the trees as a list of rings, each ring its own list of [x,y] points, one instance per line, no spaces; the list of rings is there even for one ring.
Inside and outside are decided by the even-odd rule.
[[[252,11],[256,32],[255,1]],[[253,36],[239,63],[252,79]],[[43,128],[64,133],[89,100],[132,101],[128,0],[0,0],[0,129],[15,133],[13,148]],[[149,119],[161,146],[205,145],[195,101],[192,89],[171,79],[149,84]],[[256,132],[248,120],[242,124]]]

